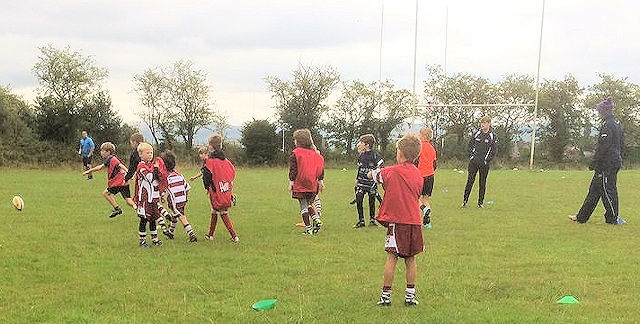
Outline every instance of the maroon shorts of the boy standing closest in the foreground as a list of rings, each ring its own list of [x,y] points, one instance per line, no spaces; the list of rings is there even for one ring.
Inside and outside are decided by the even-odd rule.
[[[389,223],[384,250],[400,258],[412,257],[424,251],[422,226]]]

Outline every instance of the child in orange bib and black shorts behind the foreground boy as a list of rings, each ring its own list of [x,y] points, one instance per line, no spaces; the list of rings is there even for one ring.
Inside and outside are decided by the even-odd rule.
[[[421,149],[418,158],[418,170],[423,178],[420,194],[420,210],[422,210],[422,226],[431,228],[431,194],[436,173],[436,149],[431,144],[433,130],[425,127],[420,130]]]

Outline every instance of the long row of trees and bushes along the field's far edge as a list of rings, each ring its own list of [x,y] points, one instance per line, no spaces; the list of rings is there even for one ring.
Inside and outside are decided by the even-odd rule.
[[[33,103],[0,86],[0,165],[55,165],[77,159],[74,152],[83,129],[97,143],[127,147],[129,135],[138,130],[113,110],[104,85],[108,70],[69,47],[47,45],[39,51],[32,68],[38,79]],[[545,79],[539,85],[534,123],[533,76],[513,74],[493,82],[470,73],[445,75],[437,65],[425,68],[422,93],[399,89],[391,80],[341,80],[332,66],[299,63],[289,78],[266,76],[276,113],[269,120],[242,125],[239,143],[226,145],[230,157],[252,165],[286,163],[293,130],[308,128],[328,159],[353,160],[359,136],[367,133],[375,135],[377,148],[392,159],[398,136],[425,125],[434,129],[441,161],[464,160],[468,135],[480,117],[491,116],[504,163],[528,160],[533,126],[536,160],[564,163],[592,149],[599,122],[592,107],[612,97],[625,130],[628,160],[640,160],[640,87],[626,77],[601,73],[598,83],[586,87],[571,74]],[[206,72],[191,61],[149,67],[132,80],[139,102],[135,114],[157,146],[195,156],[198,131],[224,134],[230,127],[228,116],[213,108]]]

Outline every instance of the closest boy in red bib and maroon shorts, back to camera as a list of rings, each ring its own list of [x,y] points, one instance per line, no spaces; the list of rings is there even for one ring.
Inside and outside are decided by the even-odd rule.
[[[398,262],[404,258],[407,268],[407,288],[404,302],[407,306],[418,305],[415,298],[417,265],[415,256],[424,249],[422,239],[422,217],[418,198],[422,192],[422,176],[413,164],[420,154],[420,139],[412,134],[398,141],[396,158],[398,164],[370,172],[370,177],[382,184],[384,198],[376,219],[387,227],[384,265],[384,286],[378,305],[391,305],[391,285]]]

